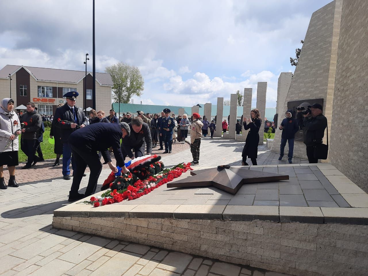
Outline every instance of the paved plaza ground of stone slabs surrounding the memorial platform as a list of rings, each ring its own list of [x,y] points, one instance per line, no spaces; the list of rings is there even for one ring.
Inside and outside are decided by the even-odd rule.
[[[244,143],[204,139],[201,165],[239,164]],[[272,154],[260,148],[263,162]],[[175,153],[176,152],[176,153]],[[268,156],[268,157],[267,157]],[[163,155],[166,164],[191,160],[188,145]],[[0,275],[142,275],[142,276],[280,276],[249,266],[162,250],[125,241],[89,236],[51,226],[53,210],[67,205],[71,181],[63,180],[52,161],[32,170],[17,170],[19,188],[0,190]],[[59,167],[59,170],[61,168]],[[59,172],[59,171],[58,171]],[[102,183],[110,173],[103,169]],[[5,179],[8,174],[5,172]],[[84,177],[82,191],[88,182]],[[98,186],[98,189],[100,185]]]

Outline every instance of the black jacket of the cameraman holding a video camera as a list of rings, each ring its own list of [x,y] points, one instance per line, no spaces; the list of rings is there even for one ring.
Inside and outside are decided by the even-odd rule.
[[[298,113],[298,118],[300,118],[300,116],[301,113]],[[299,125],[301,129],[304,130],[303,142],[306,146],[322,143],[327,127],[327,118],[323,116],[323,114],[311,118],[300,118]]]

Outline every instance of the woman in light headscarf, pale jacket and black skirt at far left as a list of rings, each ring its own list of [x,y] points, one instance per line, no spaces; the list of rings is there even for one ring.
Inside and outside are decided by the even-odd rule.
[[[8,186],[18,187],[15,181],[15,166],[18,166],[18,135],[21,134],[21,123],[14,112],[14,100],[5,98],[0,106],[0,188],[8,187],[4,180],[4,165],[8,166],[10,179]]]

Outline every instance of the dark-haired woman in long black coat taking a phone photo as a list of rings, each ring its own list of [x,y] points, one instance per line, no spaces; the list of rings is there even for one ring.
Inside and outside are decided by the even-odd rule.
[[[253,165],[257,165],[258,143],[259,143],[259,128],[261,127],[262,120],[259,118],[260,114],[258,109],[251,111],[251,118],[244,118],[243,125],[245,130],[250,130],[245,140],[243,153],[243,166],[248,166],[247,157],[251,159]],[[262,137],[263,139],[263,137]]]

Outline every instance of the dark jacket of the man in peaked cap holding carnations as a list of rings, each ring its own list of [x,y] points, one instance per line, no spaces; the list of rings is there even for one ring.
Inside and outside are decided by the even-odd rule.
[[[74,106],[74,108],[75,108],[75,112],[77,116],[77,124],[78,125],[81,125],[81,124],[88,125],[88,119],[85,116],[83,110],[78,106]],[[74,129],[70,128],[70,123],[63,124],[62,122],[58,121],[59,118],[61,120],[74,122],[73,112],[67,103],[56,109],[55,116],[53,119],[53,120],[56,120],[56,126],[61,128],[61,142],[64,143],[68,141],[69,135],[72,134],[72,132],[74,132],[78,128],[74,128]]]

